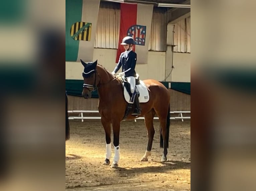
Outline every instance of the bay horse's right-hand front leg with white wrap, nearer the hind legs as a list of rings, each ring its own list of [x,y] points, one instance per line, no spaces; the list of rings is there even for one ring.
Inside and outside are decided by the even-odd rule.
[[[121,121],[119,121],[119,120],[113,120],[112,121],[113,134],[114,134],[114,148],[115,148],[114,161],[111,165],[112,168],[117,168],[118,167],[118,162],[119,162],[119,159],[120,159],[120,155],[119,155],[120,122]]]

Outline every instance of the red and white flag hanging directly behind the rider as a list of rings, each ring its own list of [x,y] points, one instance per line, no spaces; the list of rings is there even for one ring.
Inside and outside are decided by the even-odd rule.
[[[151,30],[153,5],[121,3],[121,19],[116,63],[124,52],[122,40],[126,36],[133,37],[133,51],[137,53],[137,63],[146,64],[148,44]]]

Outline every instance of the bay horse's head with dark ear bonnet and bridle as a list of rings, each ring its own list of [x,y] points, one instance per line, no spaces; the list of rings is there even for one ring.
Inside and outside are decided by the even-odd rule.
[[[84,71],[82,73],[84,78],[82,96],[88,99],[91,98],[92,92],[97,89],[100,80],[97,73],[97,60],[88,63],[81,60],[81,63],[84,66]]]

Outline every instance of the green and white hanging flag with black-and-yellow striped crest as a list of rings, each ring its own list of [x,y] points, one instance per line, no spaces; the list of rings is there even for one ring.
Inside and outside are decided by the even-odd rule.
[[[66,61],[93,61],[100,0],[66,0]]]

